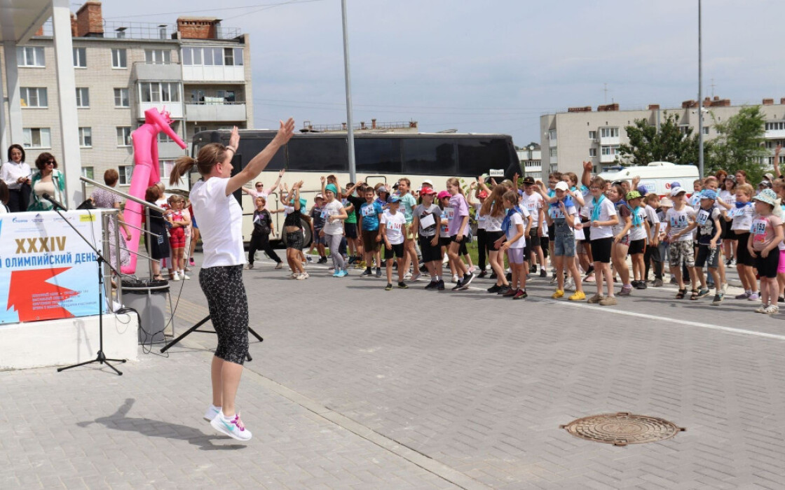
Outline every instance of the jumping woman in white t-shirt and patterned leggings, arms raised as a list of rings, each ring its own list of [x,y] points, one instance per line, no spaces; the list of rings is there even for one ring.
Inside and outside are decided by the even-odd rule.
[[[199,285],[218,336],[210,369],[213,403],[204,417],[215,430],[239,441],[251,437],[239,412],[235,413],[235,394],[248,354],[248,299],[243,286],[243,209],[232,193],[254,180],[293,134],[294,119],[281,122],[276,137],[232,176],[232,157],[240,140],[235,127],[228,146],[209,143],[195,159],[177,158],[170,176],[170,183],[177,183],[194,165],[202,176],[192,187],[190,198],[202,232],[204,260]]]

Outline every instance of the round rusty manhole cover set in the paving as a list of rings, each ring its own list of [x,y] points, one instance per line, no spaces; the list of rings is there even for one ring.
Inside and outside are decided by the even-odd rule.
[[[687,430],[665,419],[637,416],[630,412],[583,417],[559,428],[566,429],[575,437],[615,446],[664,441]]]

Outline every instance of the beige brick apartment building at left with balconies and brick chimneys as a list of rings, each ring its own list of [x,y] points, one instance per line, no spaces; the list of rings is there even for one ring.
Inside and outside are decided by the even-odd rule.
[[[31,165],[43,151],[60,158],[60,97],[51,34],[51,25],[44,24],[29,42],[17,46],[15,62],[0,51],[0,66],[15,63],[18,70],[20,110],[12,112],[20,114],[23,140],[12,143],[24,145]],[[253,128],[250,39],[221,27],[221,20],[108,22],[100,2],[86,2],[71,14],[71,34],[78,107],[73,124],[79,125],[83,176],[101,181],[104,171],[114,168],[119,185],[130,184],[130,135],[152,107],[170,112],[172,127],[185,143],[206,129]],[[3,93],[13,99],[3,83]],[[158,148],[162,180],[168,181],[174,159],[188,150],[163,133]]]

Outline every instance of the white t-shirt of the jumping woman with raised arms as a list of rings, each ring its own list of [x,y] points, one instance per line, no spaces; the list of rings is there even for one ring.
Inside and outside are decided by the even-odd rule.
[[[203,268],[246,263],[243,209],[232,194],[226,195],[228,183],[228,179],[211,177],[195,183],[191,190],[191,204],[202,235]]]

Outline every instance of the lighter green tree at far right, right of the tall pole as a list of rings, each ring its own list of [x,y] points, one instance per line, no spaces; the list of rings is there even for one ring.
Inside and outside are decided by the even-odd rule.
[[[768,164],[763,165],[761,162],[769,154],[763,146],[765,114],[761,107],[742,107],[739,114],[731,116],[725,122],[714,119],[714,129],[717,130],[718,136],[712,142],[706,168],[712,173],[724,169],[731,175],[744,170],[749,182],[760,182],[765,169],[768,168]]]

